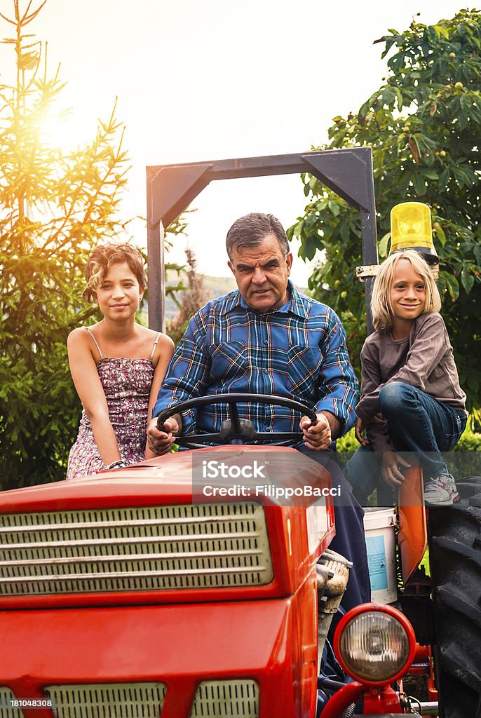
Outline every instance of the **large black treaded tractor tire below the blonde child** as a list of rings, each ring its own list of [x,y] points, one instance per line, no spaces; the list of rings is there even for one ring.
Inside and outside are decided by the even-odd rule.
[[[428,518],[436,682],[442,718],[481,718],[481,477],[457,487]]]

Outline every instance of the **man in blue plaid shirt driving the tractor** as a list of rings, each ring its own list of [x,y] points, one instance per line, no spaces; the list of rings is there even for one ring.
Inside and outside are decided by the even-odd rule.
[[[189,322],[159,392],[154,416],[180,401],[209,394],[257,393],[294,398],[317,414],[307,416],[282,406],[246,401],[242,418],[256,431],[294,431],[303,441],[296,447],[330,472],[340,488],[342,505],[335,507],[336,536],[331,544],[353,562],[343,600],[346,609],[370,600],[363,509],[335,462],[333,447],[355,421],[358,381],[350,364],[345,332],[327,305],[299,294],[289,281],[292,254],[286,233],[273,215],[251,213],[228,231],[228,266],[238,289],[213,299]],[[223,404],[175,414],[157,428],[149,425],[149,446],[156,454],[169,451],[177,436],[195,426],[218,432],[227,418]]]

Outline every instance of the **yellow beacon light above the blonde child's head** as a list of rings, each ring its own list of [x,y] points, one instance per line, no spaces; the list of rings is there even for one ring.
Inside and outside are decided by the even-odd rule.
[[[391,251],[416,249],[428,264],[437,264],[431,231],[431,210],[423,202],[403,202],[391,210]]]

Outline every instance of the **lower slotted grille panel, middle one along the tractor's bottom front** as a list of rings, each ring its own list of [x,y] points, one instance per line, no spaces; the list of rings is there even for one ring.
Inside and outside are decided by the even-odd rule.
[[[167,688],[163,683],[48,686],[55,718],[159,718]]]

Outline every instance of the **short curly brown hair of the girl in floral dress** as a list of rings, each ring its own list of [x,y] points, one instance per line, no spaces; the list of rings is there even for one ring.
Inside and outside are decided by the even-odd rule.
[[[141,290],[145,287],[144,258],[130,244],[101,244],[95,247],[85,265],[87,289],[82,296],[85,302],[95,299],[95,292],[101,286],[104,277],[113,264],[127,264],[135,274]]]

